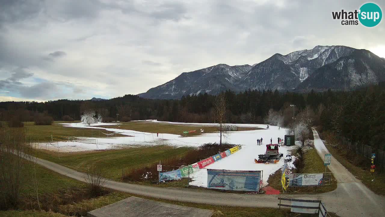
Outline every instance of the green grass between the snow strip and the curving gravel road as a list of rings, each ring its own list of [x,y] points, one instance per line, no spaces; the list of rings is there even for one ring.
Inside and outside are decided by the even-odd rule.
[[[187,150],[189,150],[187,147],[175,148],[171,146],[132,147],[117,150],[60,153],[60,160],[55,152],[39,150],[35,156],[77,171],[85,171],[88,165],[97,164],[104,170],[106,178],[121,180],[122,168],[141,167],[172,156],[183,155]]]

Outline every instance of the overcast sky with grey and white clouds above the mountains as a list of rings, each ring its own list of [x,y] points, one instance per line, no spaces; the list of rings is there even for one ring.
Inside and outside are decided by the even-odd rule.
[[[0,101],[137,94],[182,72],[316,45],[385,57],[385,20],[367,28],[331,17],[363,3],[0,0]]]

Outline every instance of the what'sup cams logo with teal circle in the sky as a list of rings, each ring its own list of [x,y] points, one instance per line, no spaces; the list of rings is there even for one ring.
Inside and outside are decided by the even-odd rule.
[[[375,3],[363,4],[359,10],[331,12],[333,19],[341,20],[341,25],[358,25],[358,21],[366,26],[378,25],[382,19],[381,8]]]

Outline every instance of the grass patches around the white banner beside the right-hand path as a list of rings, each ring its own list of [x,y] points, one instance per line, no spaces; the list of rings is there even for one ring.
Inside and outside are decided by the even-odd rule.
[[[295,156],[294,153],[292,153]],[[304,155],[305,166],[302,173],[324,173],[325,166],[323,165],[323,160],[318,155],[315,148],[308,149]],[[295,172],[295,171],[293,171]],[[331,172],[329,169],[326,172]],[[280,190],[282,192],[281,186],[281,174],[282,170],[277,170],[273,175],[268,179],[269,186]],[[288,193],[323,193],[330,192],[337,188],[337,181],[335,180],[333,174],[331,175],[330,185],[323,186],[306,186],[306,187],[288,187]]]

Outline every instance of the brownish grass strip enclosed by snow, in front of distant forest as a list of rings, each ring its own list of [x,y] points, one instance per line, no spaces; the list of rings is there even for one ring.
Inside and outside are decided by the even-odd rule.
[[[190,125],[190,124],[168,124],[168,123],[156,123],[150,121],[131,121],[131,122],[119,122],[121,125],[114,126],[109,125],[105,128],[117,128],[125,130],[134,130],[141,132],[151,133],[168,133],[181,135],[183,131],[196,131],[196,133],[187,134],[187,136],[193,136],[200,134],[200,129],[204,129],[205,133],[216,132],[218,129],[211,125]],[[256,130],[255,127],[238,127],[238,131]]]

